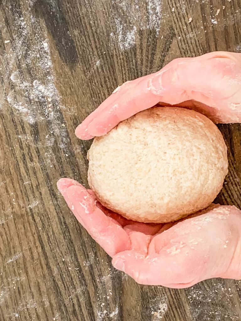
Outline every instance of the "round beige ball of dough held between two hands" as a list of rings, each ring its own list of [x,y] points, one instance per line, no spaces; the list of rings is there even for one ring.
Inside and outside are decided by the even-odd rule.
[[[140,222],[176,221],[209,206],[228,173],[227,146],[204,115],[153,107],[96,137],[88,182],[101,204]]]

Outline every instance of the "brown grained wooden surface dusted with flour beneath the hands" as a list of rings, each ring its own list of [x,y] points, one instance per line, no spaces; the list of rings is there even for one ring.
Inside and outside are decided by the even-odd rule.
[[[241,320],[241,282],[171,290],[114,270],[56,188],[87,185],[91,142],[74,129],[118,85],[176,57],[241,52],[240,24],[240,0],[0,0],[0,320]],[[241,126],[219,128],[218,201],[241,208]]]

